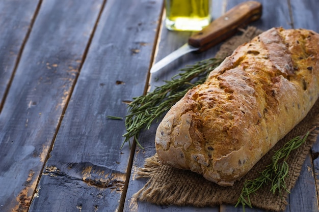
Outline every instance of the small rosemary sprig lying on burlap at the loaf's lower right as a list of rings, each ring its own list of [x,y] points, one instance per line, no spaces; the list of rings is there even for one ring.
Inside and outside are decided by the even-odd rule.
[[[246,180],[242,193],[237,200],[235,207],[242,204],[243,211],[245,212],[245,205],[252,208],[250,201],[250,194],[255,194],[255,192],[260,189],[264,184],[268,185],[271,183],[271,192],[273,194],[278,190],[279,196],[282,198],[282,189],[287,193],[290,193],[286,188],[285,178],[288,175],[289,167],[287,164],[287,159],[290,152],[294,149],[299,148],[307,139],[309,133],[314,130],[312,128],[304,136],[297,136],[285,145],[278,149],[272,157],[272,163],[267,165],[266,168],[260,173],[260,175],[252,180]]]

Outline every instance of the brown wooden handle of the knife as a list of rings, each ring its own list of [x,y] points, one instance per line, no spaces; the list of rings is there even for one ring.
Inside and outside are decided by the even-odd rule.
[[[192,35],[188,43],[199,47],[199,52],[205,51],[233,36],[238,27],[245,27],[248,23],[259,19],[261,14],[262,6],[259,2],[244,2],[212,21],[202,31]]]

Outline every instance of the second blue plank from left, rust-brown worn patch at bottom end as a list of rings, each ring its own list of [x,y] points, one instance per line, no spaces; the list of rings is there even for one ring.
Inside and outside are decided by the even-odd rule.
[[[0,114],[1,211],[28,210],[101,2],[42,2]]]

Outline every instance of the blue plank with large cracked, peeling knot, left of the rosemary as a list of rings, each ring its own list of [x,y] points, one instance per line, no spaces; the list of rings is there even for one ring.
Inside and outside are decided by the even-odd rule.
[[[123,117],[144,92],[162,4],[106,2],[31,211],[121,210],[130,149],[124,122],[107,115]]]

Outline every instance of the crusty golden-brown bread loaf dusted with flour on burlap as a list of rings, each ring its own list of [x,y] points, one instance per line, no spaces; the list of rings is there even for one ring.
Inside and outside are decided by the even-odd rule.
[[[159,160],[232,186],[306,116],[318,93],[319,35],[272,28],[170,109],[156,131]]]

